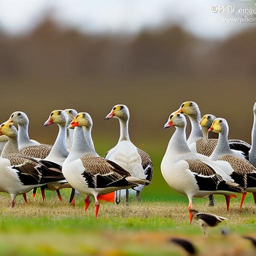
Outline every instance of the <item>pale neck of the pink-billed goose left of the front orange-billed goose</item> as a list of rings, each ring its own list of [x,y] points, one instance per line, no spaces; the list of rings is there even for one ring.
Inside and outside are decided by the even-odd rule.
[[[54,161],[54,158],[65,158],[68,155],[68,151],[66,149],[66,126],[63,124],[58,125],[58,135],[56,140],[50,150],[50,153],[45,159],[51,159]]]

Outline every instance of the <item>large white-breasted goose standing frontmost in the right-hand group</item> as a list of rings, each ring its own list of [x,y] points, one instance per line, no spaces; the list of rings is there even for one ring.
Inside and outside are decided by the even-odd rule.
[[[193,197],[205,197],[209,194],[223,194],[226,198],[227,210],[229,198],[234,192],[242,192],[237,184],[225,181],[210,165],[204,155],[191,152],[186,137],[186,119],[183,114],[171,113],[163,128],[175,126],[160,169],[166,183],[179,193],[187,196],[188,209],[192,208]],[[214,166],[215,167],[215,166]],[[189,212],[191,223],[192,215]]]

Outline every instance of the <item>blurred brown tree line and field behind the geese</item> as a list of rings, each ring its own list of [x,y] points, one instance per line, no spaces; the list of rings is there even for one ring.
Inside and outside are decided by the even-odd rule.
[[[25,111],[30,136],[53,143],[56,127],[42,126],[51,110],[87,111],[103,154],[119,133],[117,120],[104,116],[124,103],[131,114],[130,137],[153,155],[155,188],[161,187],[159,162],[173,132],[162,125],[182,101],[196,101],[202,114],[225,117],[230,138],[250,142],[255,45],[255,29],[222,41],[196,38],[178,26],[132,36],[91,35],[60,28],[46,16],[27,34],[0,32],[0,120]]]

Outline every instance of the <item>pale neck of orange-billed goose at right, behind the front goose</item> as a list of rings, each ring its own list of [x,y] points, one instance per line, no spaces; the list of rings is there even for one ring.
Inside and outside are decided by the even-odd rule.
[[[228,129],[222,130],[219,134],[218,134],[218,142],[217,145],[215,147],[215,149],[213,150],[212,154],[210,155],[210,158],[212,160],[216,160],[219,157],[223,156],[223,155],[232,155],[232,150],[229,147],[229,143],[228,143]]]

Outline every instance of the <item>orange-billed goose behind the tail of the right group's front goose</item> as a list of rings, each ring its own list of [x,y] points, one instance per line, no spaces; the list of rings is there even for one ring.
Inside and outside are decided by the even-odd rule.
[[[228,162],[234,170],[231,177],[235,182],[245,187],[245,192],[242,194],[240,201],[240,208],[242,208],[247,192],[252,192],[254,202],[256,203],[256,167],[248,160],[243,159],[243,156],[239,152],[230,149],[228,143],[228,123],[226,119],[216,118],[209,131],[218,133],[218,143],[210,159]]]

